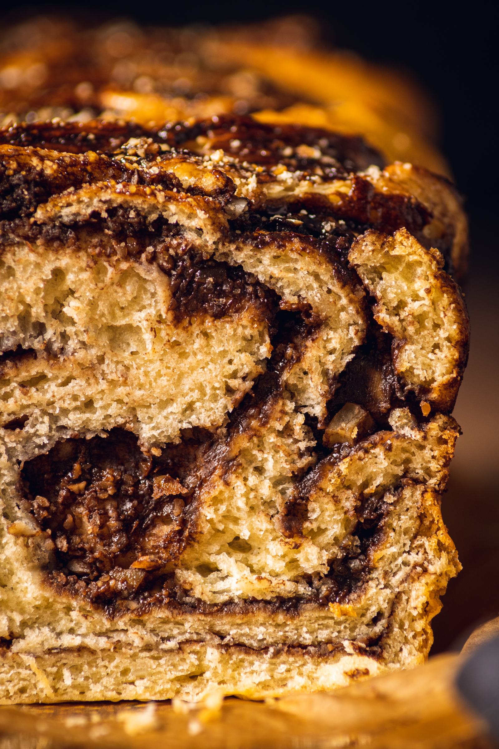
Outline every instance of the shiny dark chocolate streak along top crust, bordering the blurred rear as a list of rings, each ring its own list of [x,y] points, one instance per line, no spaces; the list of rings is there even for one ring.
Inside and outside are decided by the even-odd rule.
[[[293,124],[263,124],[251,117],[237,115],[218,115],[193,125],[180,122],[159,128],[106,121],[91,121],[84,125],[52,121],[13,125],[0,129],[0,145],[49,148],[70,154],[95,151],[113,157],[119,155],[119,149],[129,139],[148,139],[156,144],[156,148],[149,149],[150,157],[156,157],[161,153],[158,145],[178,151],[192,145],[197,151],[195,142],[199,136],[209,140],[213,151],[222,148],[241,163],[259,166],[283,163],[290,169],[305,172],[317,165],[324,169],[330,166],[339,169],[341,166],[343,174],[367,169],[373,164],[385,166],[379,152],[358,136],[342,136],[330,130]],[[319,148],[321,156],[319,159],[301,156],[296,153],[300,145]]]

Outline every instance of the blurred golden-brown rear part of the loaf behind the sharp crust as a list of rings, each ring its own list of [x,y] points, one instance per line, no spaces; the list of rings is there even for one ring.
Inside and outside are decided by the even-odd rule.
[[[254,113],[361,133],[389,161],[447,172],[426,94],[407,76],[325,46],[307,16],[183,29],[40,16],[4,31],[0,122],[102,112],[144,125]]]

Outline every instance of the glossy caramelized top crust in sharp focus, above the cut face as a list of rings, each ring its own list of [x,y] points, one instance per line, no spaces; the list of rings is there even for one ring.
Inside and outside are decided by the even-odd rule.
[[[156,129],[102,121],[13,126],[0,130],[2,234],[67,190],[94,182],[111,190],[144,185],[216,198],[207,212],[223,207],[228,218],[240,217],[241,228],[254,225],[255,210],[258,220],[288,215],[293,227],[303,231],[305,223],[312,234],[338,219],[356,232],[405,227],[423,245],[437,246],[452,270],[455,240],[465,242],[462,211],[455,203],[450,212],[444,187],[438,203],[438,185],[431,203],[423,202],[424,190],[416,187],[425,170],[406,184],[379,166],[382,158],[362,139],[252,118],[217,116]],[[157,201],[158,193],[149,199]],[[293,218],[298,213],[304,219]],[[31,237],[38,230],[35,216]]]

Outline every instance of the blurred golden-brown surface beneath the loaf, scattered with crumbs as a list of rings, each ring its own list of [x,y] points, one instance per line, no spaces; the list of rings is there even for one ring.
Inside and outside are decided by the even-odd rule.
[[[266,703],[73,703],[0,708],[0,749],[489,749],[486,728],[453,686],[463,655],[331,693]]]

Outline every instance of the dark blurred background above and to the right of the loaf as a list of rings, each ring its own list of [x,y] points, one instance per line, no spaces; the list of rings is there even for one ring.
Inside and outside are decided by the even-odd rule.
[[[10,5],[10,10],[13,6]],[[493,4],[181,1],[161,4],[85,0],[20,3],[10,19],[45,10],[132,17],[167,25],[255,22],[289,13],[319,20],[325,40],[390,64],[417,79],[441,115],[440,146],[471,222],[471,267],[465,288],[471,314],[471,356],[454,415],[463,429],[452,464],[444,519],[463,571],[451,581],[434,621],[433,652],[459,645],[471,628],[499,613],[498,80]],[[4,21],[5,21],[4,16]]]

